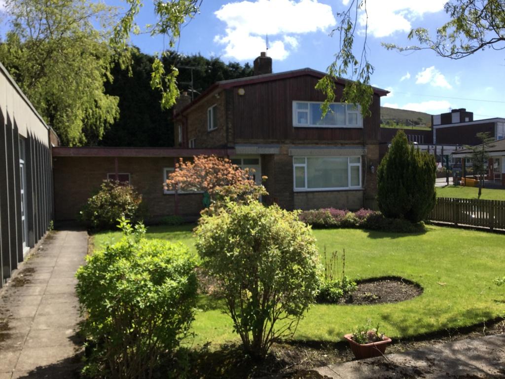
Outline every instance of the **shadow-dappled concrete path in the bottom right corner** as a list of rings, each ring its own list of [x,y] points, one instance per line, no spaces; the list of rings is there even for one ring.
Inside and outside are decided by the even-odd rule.
[[[505,335],[319,367],[330,378],[505,378]]]

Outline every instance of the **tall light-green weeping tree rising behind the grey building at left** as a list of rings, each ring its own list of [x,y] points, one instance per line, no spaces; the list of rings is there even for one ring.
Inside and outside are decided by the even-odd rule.
[[[7,0],[11,30],[0,44],[6,66],[64,145],[100,138],[119,116],[104,93],[111,79],[111,8],[87,0]]]

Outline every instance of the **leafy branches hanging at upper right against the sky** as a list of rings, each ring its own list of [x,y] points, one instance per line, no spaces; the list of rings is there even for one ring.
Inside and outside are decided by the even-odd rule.
[[[411,30],[409,39],[417,38],[419,46],[401,47],[394,43],[383,43],[386,49],[397,51],[432,50],[437,55],[451,59],[468,57],[480,50],[505,49],[505,6],[503,0],[451,0],[444,6],[450,21],[437,28],[436,37],[431,38],[426,28]],[[339,35],[339,51],[327,69],[327,76],[320,80],[318,88],[327,95],[323,109],[335,99],[334,79],[341,76],[355,81],[345,86],[342,100],[360,104],[363,115],[372,103],[370,76],[374,68],[367,56],[368,13],[366,0],[350,0],[344,12],[337,13],[338,27],[332,31]],[[363,45],[355,49],[354,37],[357,20],[365,19]]]

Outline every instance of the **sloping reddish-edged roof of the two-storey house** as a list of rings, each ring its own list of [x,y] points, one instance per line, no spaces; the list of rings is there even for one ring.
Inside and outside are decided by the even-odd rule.
[[[299,76],[307,76],[307,75],[314,76],[318,79],[321,79],[324,76],[326,76],[326,73],[306,67],[306,68],[301,68],[298,70],[276,72],[276,73],[272,73],[272,74],[263,74],[263,75],[248,76],[245,78],[221,80],[221,81],[214,83],[209,88],[207,88],[204,92],[201,93],[200,96],[198,96],[194,101],[192,101],[187,106],[182,108],[180,110],[180,112],[178,112],[178,113],[186,112],[187,110],[192,108],[194,105],[198,104],[201,100],[205,99],[210,93],[213,93],[216,90],[233,88],[233,87],[237,87],[239,85],[257,84],[257,83],[263,83],[263,82],[268,82],[268,81],[296,78]],[[343,79],[343,78],[337,78],[337,79],[335,79],[335,81],[337,83],[345,85],[345,83],[349,82],[350,80]],[[372,86],[372,88],[374,90],[374,93],[378,94],[379,96],[386,96],[389,93],[389,91],[386,89],[377,88],[377,87],[373,87],[373,86]]]

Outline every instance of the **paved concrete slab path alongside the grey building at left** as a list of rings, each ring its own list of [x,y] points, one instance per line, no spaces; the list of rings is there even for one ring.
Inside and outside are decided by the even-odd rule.
[[[0,290],[0,379],[78,377],[75,271],[85,231],[55,231]]]

